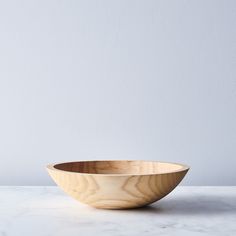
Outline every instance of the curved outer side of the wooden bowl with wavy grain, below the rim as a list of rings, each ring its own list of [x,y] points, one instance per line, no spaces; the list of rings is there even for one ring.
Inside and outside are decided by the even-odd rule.
[[[152,175],[94,175],[48,168],[67,194],[96,208],[127,209],[151,204],[170,193],[188,169]]]

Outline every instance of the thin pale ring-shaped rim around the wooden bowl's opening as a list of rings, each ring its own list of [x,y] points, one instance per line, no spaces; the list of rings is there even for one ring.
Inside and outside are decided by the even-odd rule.
[[[180,169],[175,170],[175,171],[166,171],[162,173],[150,173],[150,174],[135,174],[135,173],[124,173],[124,174],[97,174],[97,173],[82,173],[82,172],[75,172],[75,171],[68,171],[68,170],[60,170],[55,168],[56,165],[59,164],[66,164],[66,163],[74,163],[74,162],[104,162],[104,161],[111,161],[111,162],[125,162],[125,161],[141,161],[141,162],[157,162],[157,163],[165,163],[165,164],[173,164],[173,165],[179,165]],[[190,169],[190,166],[182,163],[177,163],[177,162],[167,162],[167,161],[153,161],[153,160],[77,160],[77,161],[67,161],[67,162],[58,162],[58,163],[52,163],[48,164],[46,166],[47,170],[52,170],[52,171],[59,171],[59,172],[66,172],[70,174],[79,174],[79,175],[93,175],[93,176],[149,176],[149,175],[165,175],[165,174],[171,174],[171,173],[178,173],[178,172],[183,172],[183,171],[188,171]]]

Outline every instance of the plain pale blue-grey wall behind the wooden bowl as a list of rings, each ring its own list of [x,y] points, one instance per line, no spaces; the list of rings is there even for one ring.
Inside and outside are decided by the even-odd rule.
[[[236,1],[0,1],[0,184],[147,159],[236,184]]]

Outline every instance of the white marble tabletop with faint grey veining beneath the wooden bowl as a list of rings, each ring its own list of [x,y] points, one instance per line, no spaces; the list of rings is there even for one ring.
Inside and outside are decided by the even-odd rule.
[[[0,187],[0,236],[236,235],[236,187],[178,187],[136,210],[98,210],[57,187]]]

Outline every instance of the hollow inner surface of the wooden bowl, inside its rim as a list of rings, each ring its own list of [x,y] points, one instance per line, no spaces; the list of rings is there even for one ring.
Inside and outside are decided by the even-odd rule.
[[[53,168],[69,172],[87,174],[131,174],[149,175],[178,172],[188,169],[176,163],[157,161],[79,161],[53,165]]]

